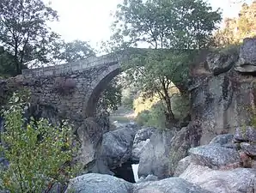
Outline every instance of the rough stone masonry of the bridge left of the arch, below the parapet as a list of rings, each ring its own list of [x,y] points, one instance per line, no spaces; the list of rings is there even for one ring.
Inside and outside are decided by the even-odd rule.
[[[107,63],[64,74],[25,76],[22,83],[35,103],[56,107],[63,118],[82,120],[93,114],[93,100],[118,72],[119,63]]]

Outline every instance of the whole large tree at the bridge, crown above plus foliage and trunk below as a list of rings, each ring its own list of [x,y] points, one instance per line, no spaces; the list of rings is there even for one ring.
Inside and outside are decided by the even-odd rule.
[[[208,46],[221,21],[219,10],[212,11],[202,0],[125,0],[115,18],[113,40],[143,43],[155,50],[133,55],[125,63],[128,79],[143,93],[157,93],[165,103],[167,120],[175,122],[168,93],[171,82],[186,93],[191,51]]]

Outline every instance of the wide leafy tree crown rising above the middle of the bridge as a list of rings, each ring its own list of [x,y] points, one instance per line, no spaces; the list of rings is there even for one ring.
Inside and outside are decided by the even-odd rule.
[[[125,0],[115,18],[113,39],[128,39],[131,45],[146,42],[155,49],[204,47],[221,21],[219,10],[203,0]]]

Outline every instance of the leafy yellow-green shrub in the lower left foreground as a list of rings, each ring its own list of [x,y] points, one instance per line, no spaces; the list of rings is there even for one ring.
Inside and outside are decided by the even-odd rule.
[[[67,122],[53,126],[45,118],[24,118],[26,98],[26,94],[14,93],[9,109],[3,112],[1,150],[9,166],[1,170],[1,188],[11,193],[49,192],[76,174],[79,166],[73,159],[78,146]]]

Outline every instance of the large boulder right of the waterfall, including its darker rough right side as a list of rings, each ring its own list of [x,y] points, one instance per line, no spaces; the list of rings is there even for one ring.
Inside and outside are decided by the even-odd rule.
[[[179,130],[156,130],[141,154],[138,176],[153,174],[158,178],[174,175],[178,162],[187,156],[189,148],[197,147],[200,140],[198,123],[191,123]]]

